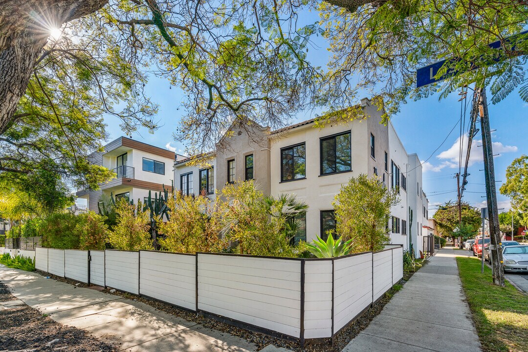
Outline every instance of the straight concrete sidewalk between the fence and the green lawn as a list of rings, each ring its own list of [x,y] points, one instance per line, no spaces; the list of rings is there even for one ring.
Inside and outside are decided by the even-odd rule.
[[[455,256],[438,251],[343,351],[482,351]]]

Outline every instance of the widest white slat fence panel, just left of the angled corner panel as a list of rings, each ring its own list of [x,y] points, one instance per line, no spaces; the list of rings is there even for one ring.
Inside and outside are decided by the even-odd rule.
[[[198,309],[300,335],[300,260],[198,255]]]

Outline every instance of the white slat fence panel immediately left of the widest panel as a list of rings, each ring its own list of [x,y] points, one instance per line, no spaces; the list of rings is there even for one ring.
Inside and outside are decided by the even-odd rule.
[[[196,256],[140,251],[139,293],[196,309]]]

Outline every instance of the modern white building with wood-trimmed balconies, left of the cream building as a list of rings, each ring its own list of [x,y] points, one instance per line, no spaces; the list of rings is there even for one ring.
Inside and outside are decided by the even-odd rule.
[[[92,153],[93,164],[114,170],[116,178],[101,184],[98,191],[82,189],[78,198],[87,199],[88,210],[96,213],[101,194],[145,202],[148,192],[152,197],[163,191],[172,191],[174,161],[184,158],[173,151],[155,147],[137,140],[119,137],[105,146],[104,151]]]

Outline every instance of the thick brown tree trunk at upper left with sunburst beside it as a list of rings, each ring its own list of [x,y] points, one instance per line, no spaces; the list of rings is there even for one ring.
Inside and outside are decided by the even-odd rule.
[[[0,135],[15,119],[50,31],[108,0],[0,0]]]

